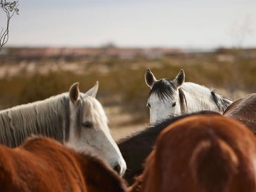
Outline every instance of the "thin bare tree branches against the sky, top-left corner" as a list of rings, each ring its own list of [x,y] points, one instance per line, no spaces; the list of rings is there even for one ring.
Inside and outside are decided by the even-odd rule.
[[[1,27],[1,32],[0,32],[0,51],[1,51],[1,49],[3,48],[3,46],[7,43],[8,39],[9,39],[10,20],[14,14],[18,15],[18,13],[19,13],[18,1],[1,0],[0,7],[6,14],[6,27],[5,28]]]

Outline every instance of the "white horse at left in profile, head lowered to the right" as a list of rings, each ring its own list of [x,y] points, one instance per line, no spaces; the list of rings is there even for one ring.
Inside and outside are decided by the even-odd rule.
[[[93,148],[124,174],[126,163],[110,135],[97,92],[98,81],[85,93],[74,83],[69,92],[0,111],[0,144],[20,146],[30,135],[44,135],[75,149]]]

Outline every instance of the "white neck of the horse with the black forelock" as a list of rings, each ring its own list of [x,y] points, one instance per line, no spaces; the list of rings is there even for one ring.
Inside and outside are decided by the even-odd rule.
[[[191,82],[183,83],[181,88],[186,97],[188,113],[203,110],[219,111],[215,101],[212,100],[210,89]]]

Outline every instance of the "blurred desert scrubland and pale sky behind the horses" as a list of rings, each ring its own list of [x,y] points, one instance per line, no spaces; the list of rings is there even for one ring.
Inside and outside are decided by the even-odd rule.
[[[255,0],[20,0],[18,8],[0,52],[0,109],[99,81],[120,139],[149,123],[148,67],[156,78],[182,68],[186,81],[232,100],[256,92]]]

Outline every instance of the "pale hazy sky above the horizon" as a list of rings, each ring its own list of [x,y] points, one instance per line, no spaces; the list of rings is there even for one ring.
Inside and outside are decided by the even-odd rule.
[[[19,8],[8,46],[256,47],[255,0],[20,0]]]

